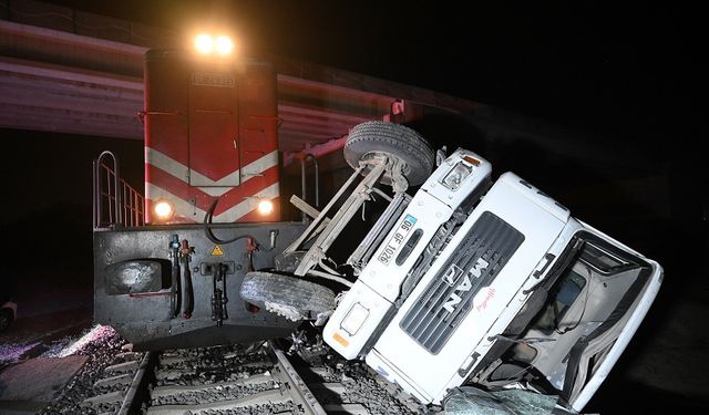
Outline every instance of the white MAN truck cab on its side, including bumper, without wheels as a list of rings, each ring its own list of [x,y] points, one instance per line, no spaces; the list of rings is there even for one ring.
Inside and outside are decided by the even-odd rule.
[[[513,173],[452,154],[421,186],[323,329],[422,403],[464,383],[580,411],[635,334],[655,261]]]

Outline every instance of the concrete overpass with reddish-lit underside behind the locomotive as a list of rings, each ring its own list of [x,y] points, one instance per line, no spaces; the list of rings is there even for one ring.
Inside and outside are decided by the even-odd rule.
[[[143,54],[179,46],[177,33],[32,0],[0,4],[1,127],[142,139]],[[279,139],[287,155],[337,149],[353,125],[410,103],[475,108],[395,82],[259,58],[278,73]]]

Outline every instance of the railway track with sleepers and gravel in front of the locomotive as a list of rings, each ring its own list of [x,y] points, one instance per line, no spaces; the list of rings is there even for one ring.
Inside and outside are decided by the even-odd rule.
[[[284,349],[267,342],[119,353],[79,407],[82,414],[120,415],[424,412],[363,364],[332,356],[306,362]]]

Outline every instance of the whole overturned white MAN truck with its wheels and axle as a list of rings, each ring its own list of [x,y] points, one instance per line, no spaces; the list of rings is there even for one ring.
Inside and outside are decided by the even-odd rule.
[[[558,395],[580,411],[646,315],[662,268],[515,174],[493,183],[473,152],[434,155],[405,126],[356,126],[345,157],[356,170],[340,208],[328,204],[275,269],[247,273],[242,297],[323,324],[332,350],[422,403],[474,384]],[[328,249],[373,195],[388,201],[383,214],[336,269]]]

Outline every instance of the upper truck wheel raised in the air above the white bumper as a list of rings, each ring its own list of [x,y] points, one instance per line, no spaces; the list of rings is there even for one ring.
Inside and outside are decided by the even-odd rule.
[[[434,163],[431,145],[419,133],[401,124],[383,121],[368,121],[356,125],[350,132],[343,152],[345,159],[352,168],[358,168],[360,160],[377,154],[383,153],[399,158],[410,186],[425,181]],[[391,185],[391,177],[386,174],[381,181]]]

